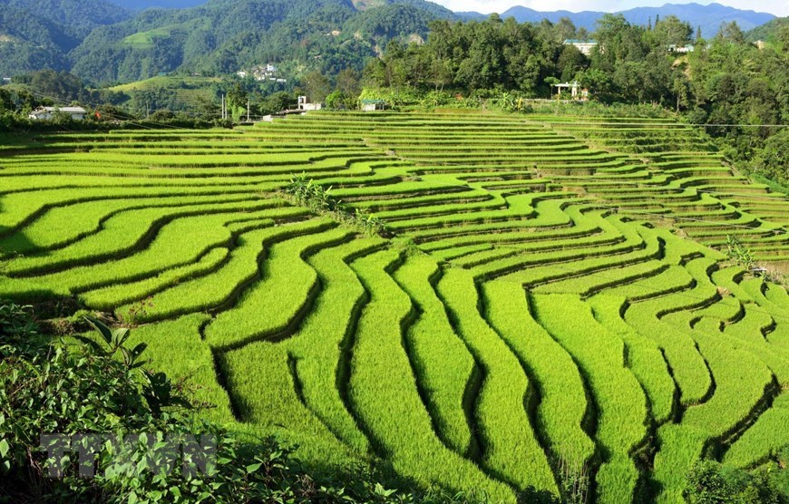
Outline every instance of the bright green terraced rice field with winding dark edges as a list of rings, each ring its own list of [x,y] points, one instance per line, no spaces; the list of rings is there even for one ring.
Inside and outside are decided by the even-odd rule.
[[[725,253],[785,273],[787,229],[665,119],[317,112],[0,152],[0,297],[135,325],[206,416],[305,460],[493,502],[674,503],[696,460],[789,445],[789,295]]]

